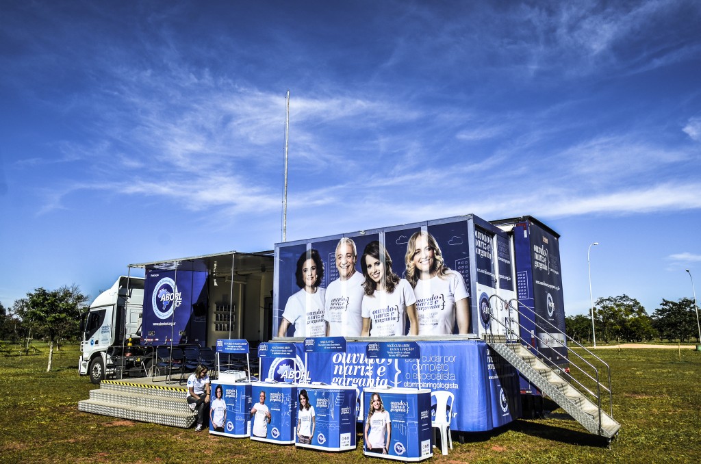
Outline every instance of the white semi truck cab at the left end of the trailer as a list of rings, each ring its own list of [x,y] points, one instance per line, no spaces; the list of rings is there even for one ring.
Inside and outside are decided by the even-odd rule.
[[[143,306],[144,278],[122,275],[97,296],[81,320],[81,375],[100,383],[118,371],[143,369],[139,347]]]

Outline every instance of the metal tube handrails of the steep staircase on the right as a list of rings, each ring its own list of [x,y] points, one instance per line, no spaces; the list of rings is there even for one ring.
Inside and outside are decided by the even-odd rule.
[[[501,322],[501,320],[498,320],[498,318],[495,318],[495,317],[494,317],[494,312],[493,312],[492,305],[491,305],[491,299],[492,299],[493,297],[495,297],[495,296],[496,296],[497,299],[499,299],[499,300],[502,301],[502,303],[505,305],[506,308],[509,308],[509,315],[508,315],[508,325],[509,325],[509,327],[507,327],[507,325],[505,325],[503,322]],[[569,378],[571,378],[573,381],[575,381],[576,383],[578,383],[578,385],[580,385],[584,390],[586,390],[587,393],[589,393],[590,395],[592,395],[593,397],[595,397],[595,398],[597,399],[597,408],[598,408],[598,410],[599,410],[599,426],[601,426],[601,388],[603,388],[604,390],[606,390],[606,392],[608,393],[609,405],[610,405],[610,408],[611,408],[611,418],[613,418],[613,397],[612,397],[612,394],[611,394],[611,367],[609,367],[608,364],[607,364],[606,362],[604,362],[604,360],[601,360],[600,357],[598,357],[597,355],[594,355],[594,353],[592,353],[590,350],[587,350],[587,348],[585,348],[584,346],[582,346],[582,345],[581,345],[580,343],[578,343],[577,341],[573,340],[573,339],[572,339],[570,336],[568,336],[566,333],[562,332],[562,330],[560,330],[560,329],[557,328],[555,325],[553,325],[552,322],[550,322],[550,321],[548,321],[547,319],[543,318],[543,316],[538,315],[535,311],[533,311],[531,308],[529,308],[529,306],[526,306],[522,301],[519,301],[518,299],[511,299],[511,300],[509,300],[509,301],[506,301],[505,299],[503,299],[501,296],[499,296],[499,295],[497,295],[497,294],[491,295],[491,296],[489,297],[489,301],[490,301],[490,303],[489,303],[490,319],[496,321],[499,325],[501,325],[502,327],[504,327],[504,329],[507,331],[508,334],[513,334],[513,335],[515,335],[515,336],[517,337],[517,339],[519,339],[519,341],[520,341],[521,343],[524,344],[524,346],[535,349],[535,350],[536,350],[536,353],[538,353],[538,354],[540,355],[540,356],[539,356],[539,357],[540,357],[540,360],[542,360],[542,361],[544,361],[544,362],[549,362],[549,363],[552,364],[553,366],[558,367],[557,364],[555,364],[554,362],[552,362],[552,360],[550,360],[550,359],[548,359],[547,357],[545,357],[545,355],[543,355],[543,353],[540,352],[540,350],[538,349],[537,346],[531,346],[531,343],[529,343],[528,341],[526,341],[526,340],[520,335],[520,333],[515,332],[515,331],[510,327],[511,324],[512,324],[512,322],[516,322],[515,320],[513,320],[512,316],[511,316],[511,314],[510,314],[510,311],[511,311],[511,310],[515,310],[515,311],[519,314],[519,322],[518,322],[519,328],[525,329],[525,327],[523,327],[523,325],[521,324],[521,321],[520,321],[520,318],[523,317],[523,318],[525,318],[526,320],[529,320],[529,322],[533,323],[533,325],[536,327],[536,329],[543,330],[543,332],[547,333],[547,330],[545,330],[543,327],[541,327],[540,325],[538,325],[537,322],[535,322],[534,320],[531,320],[531,318],[529,318],[528,315],[525,315],[525,314],[523,314],[521,311],[519,311],[518,306],[517,306],[516,308],[514,308],[514,306],[513,306],[513,304],[512,304],[512,301],[516,301],[517,304],[519,304],[519,305],[523,306],[524,308],[528,309],[529,311],[531,311],[531,312],[533,313],[533,315],[536,315],[536,316],[538,316],[538,318],[540,318],[540,319],[544,320],[545,322],[547,322],[547,324],[550,325],[550,326],[552,327],[552,329],[554,329],[554,331],[555,331],[557,334],[560,334],[560,335],[564,336],[564,339],[565,339],[565,340],[570,340],[570,341],[572,341],[572,343],[574,343],[576,346],[578,346],[578,347],[582,348],[583,350],[585,350],[588,354],[592,355],[592,357],[594,357],[596,360],[598,360],[599,362],[601,362],[601,364],[604,364],[604,366],[606,367],[606,370],[607,370],[607,372],[608,372],[608,388],[606,387],[606,385],[602,384],[602,383],[599,381],[599,369],[598,369],[596,366],[594,366],[594,364],[592,364],[591,362],[588,362],[587,360],[585,360],[581,355],[579,355],[579,353],[577,353],[576,351],[574,351],[574,350],[572,350],[571,348],[569,348],[569,346],[567,346],[566,344],[560,343],[560,342],[557,343],[557,347],[553,347],[553,346],[550,345],[550,343],[547,342],[547,340],[543,340],[543,339],[541,339],[538,335],[533,334],[533,337],[534,337],[535,339],[537,339],[538,341],[540,341],[541,343],[545,344],[545,346],[548,346],[548,347],[551,348],[551,349],[559,348],[560,346],[564,347],[564,348],[567,350],[567,353],[573,353],[574,355],[576,355],[576,357],[578,357],[580,360],[582,360],[585,364],[587,364],[587,365],[594,371],[594,373],[595,373],[595,375],[596,375],[596,378],[592,377],[587,371],[585,371],[585,370],[583,370],[581,367],[579,367],[579,366],[577,365],[576,362],[570,361],[571,364],[573,364],[574,367],[576,367],[580,372],[582,372],[583,374],[585,374],[585,376],[589,377],[589,378],[590,378],[592,381],[594,381],[594,382],[596,383],[596,385],[597,385],[597,393],[594,393],[594,392],[592,392],[589,388],[587,388],[585,385],[583,385],[583,383],[581,383],[580,381],[578,381],[576,378],[574,378],[574,377],[572,377],[572,376],[569,376]],[[494,330],[493,330],[493,328],[492,328],[491,325],[490,325],[490,328],[489,328],[489,329],[490,329],[490,333],[492,334],[492,336],[494,336]],[[519,332],[520,332],[520,331],[519,331]],[[559,367],[558,367],[558,369],[559,369]]]

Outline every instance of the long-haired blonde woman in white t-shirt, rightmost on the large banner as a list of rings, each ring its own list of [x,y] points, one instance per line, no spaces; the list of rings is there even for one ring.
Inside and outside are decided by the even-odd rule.
[[[440,247],[428,232],[416,232],[409,238],[404,257],[407,280],[416,295],[419,335],[452,334],[470,331],[468,293],[463,276],[445,265]]]

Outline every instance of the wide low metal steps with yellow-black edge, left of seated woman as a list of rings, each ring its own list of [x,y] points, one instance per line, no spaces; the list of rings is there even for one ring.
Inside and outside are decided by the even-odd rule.
[[[189,428],[197,414],[187,405],[184,387],[154,385],[151,378],[102,381],[90,390],[90,399],[78,402],[79,411],[131,421]]]

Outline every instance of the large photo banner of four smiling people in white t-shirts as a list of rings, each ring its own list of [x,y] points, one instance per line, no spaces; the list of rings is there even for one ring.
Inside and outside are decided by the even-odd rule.
[[[470,334],[471,244],[467,219],[276,244],[273,333]]]

